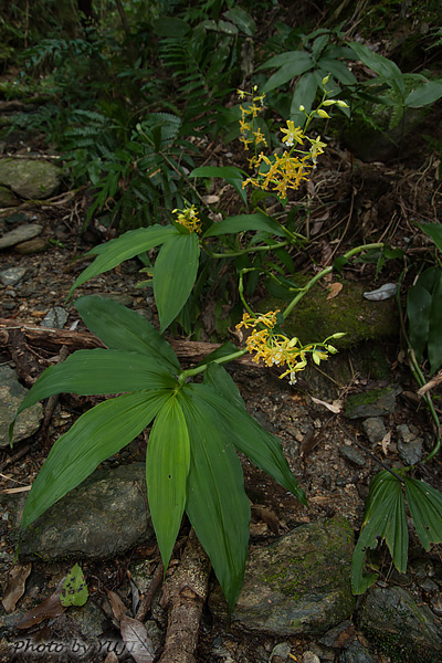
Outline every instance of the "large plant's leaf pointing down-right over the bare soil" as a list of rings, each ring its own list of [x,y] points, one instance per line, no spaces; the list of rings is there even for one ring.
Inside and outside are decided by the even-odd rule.
[[[260,470],[291,491],[299,502],[306,504],[304,491],[299,488],[292,474],[280,440],[264,431],[243,408],[233,406],[225,398],[220,398],[213,388],[208,385],[193,385],[193,388],[199,397],[218,413],[219,427],[225,431],[236,449],[245,453]]]

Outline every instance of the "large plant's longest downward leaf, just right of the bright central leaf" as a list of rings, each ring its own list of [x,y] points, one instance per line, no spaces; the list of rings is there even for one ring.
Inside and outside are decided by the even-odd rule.
[[[186,385],[178,394],[190,438],[186,512],[232,610],[244,576],[250,506],[239,457],[197,387]]]

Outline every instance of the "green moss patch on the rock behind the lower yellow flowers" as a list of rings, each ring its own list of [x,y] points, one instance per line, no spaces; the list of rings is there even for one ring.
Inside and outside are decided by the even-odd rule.
[[[297,276],[296,280],[302,281]],[[288,315],[284,330],[297,336],[304,344],[320,341],[336,332],[345,332],[346,336],[334,343],[339,348],[369,339],[396,337],[399,325],[394,298],[370,302],[364,298],[364,292],[361,285],[344,282],[339,295],[327,299],[328,292],[316,285]],[[263,312],[276,308],[284,311],[285,306],[281,299],[269,296],[256,308]]]

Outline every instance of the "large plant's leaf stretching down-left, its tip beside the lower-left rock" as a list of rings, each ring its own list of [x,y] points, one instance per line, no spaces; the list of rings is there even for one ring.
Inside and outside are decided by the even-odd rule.
[[[82,483],[131,442],[170,398],[170,390],[125,393],[92,408],[59,438],[29,493],[21,527]]]

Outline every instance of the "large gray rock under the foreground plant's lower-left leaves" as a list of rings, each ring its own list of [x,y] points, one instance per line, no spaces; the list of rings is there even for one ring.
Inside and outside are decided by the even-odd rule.
[[[24,530],[20,555],[102,558],[152,537],[145,464],[135,463],[95,471]]]

